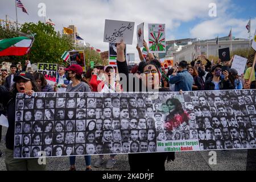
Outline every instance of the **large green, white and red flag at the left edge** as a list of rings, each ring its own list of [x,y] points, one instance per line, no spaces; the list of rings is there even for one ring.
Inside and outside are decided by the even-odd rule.
[[[34,39],[26,36],[0,40],[0,56],[23,56],[30,51]]]

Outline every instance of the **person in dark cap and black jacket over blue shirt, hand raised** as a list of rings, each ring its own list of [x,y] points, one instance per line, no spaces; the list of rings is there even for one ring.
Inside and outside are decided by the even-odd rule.
[[[229,72],[222,72],[222,65],[217,64],[212,67],[210,71],[213,77],[210,77],[205,81],[205,90],[231,90],[233,86],[229,81]],[[221,75],[224,75],[224,79],[221,78]]]

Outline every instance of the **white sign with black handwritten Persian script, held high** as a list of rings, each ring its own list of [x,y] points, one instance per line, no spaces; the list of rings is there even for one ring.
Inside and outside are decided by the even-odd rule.
[[[105,20],[104,42],[133,44],[134,22]]]

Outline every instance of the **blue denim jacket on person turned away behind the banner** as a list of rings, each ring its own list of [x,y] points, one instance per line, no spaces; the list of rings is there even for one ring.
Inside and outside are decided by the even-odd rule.
[[[176,76],[171,75],[169,79],[170,84],[175,84],[175,92],[191,91],[194,79],[187,69],[184,69],[180,73],[177,73]]]

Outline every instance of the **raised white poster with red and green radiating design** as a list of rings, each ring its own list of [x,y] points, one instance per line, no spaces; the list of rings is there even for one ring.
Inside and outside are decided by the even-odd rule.
[[[166,24],[148,24],[148,40],[150,52],[166,52]]]

